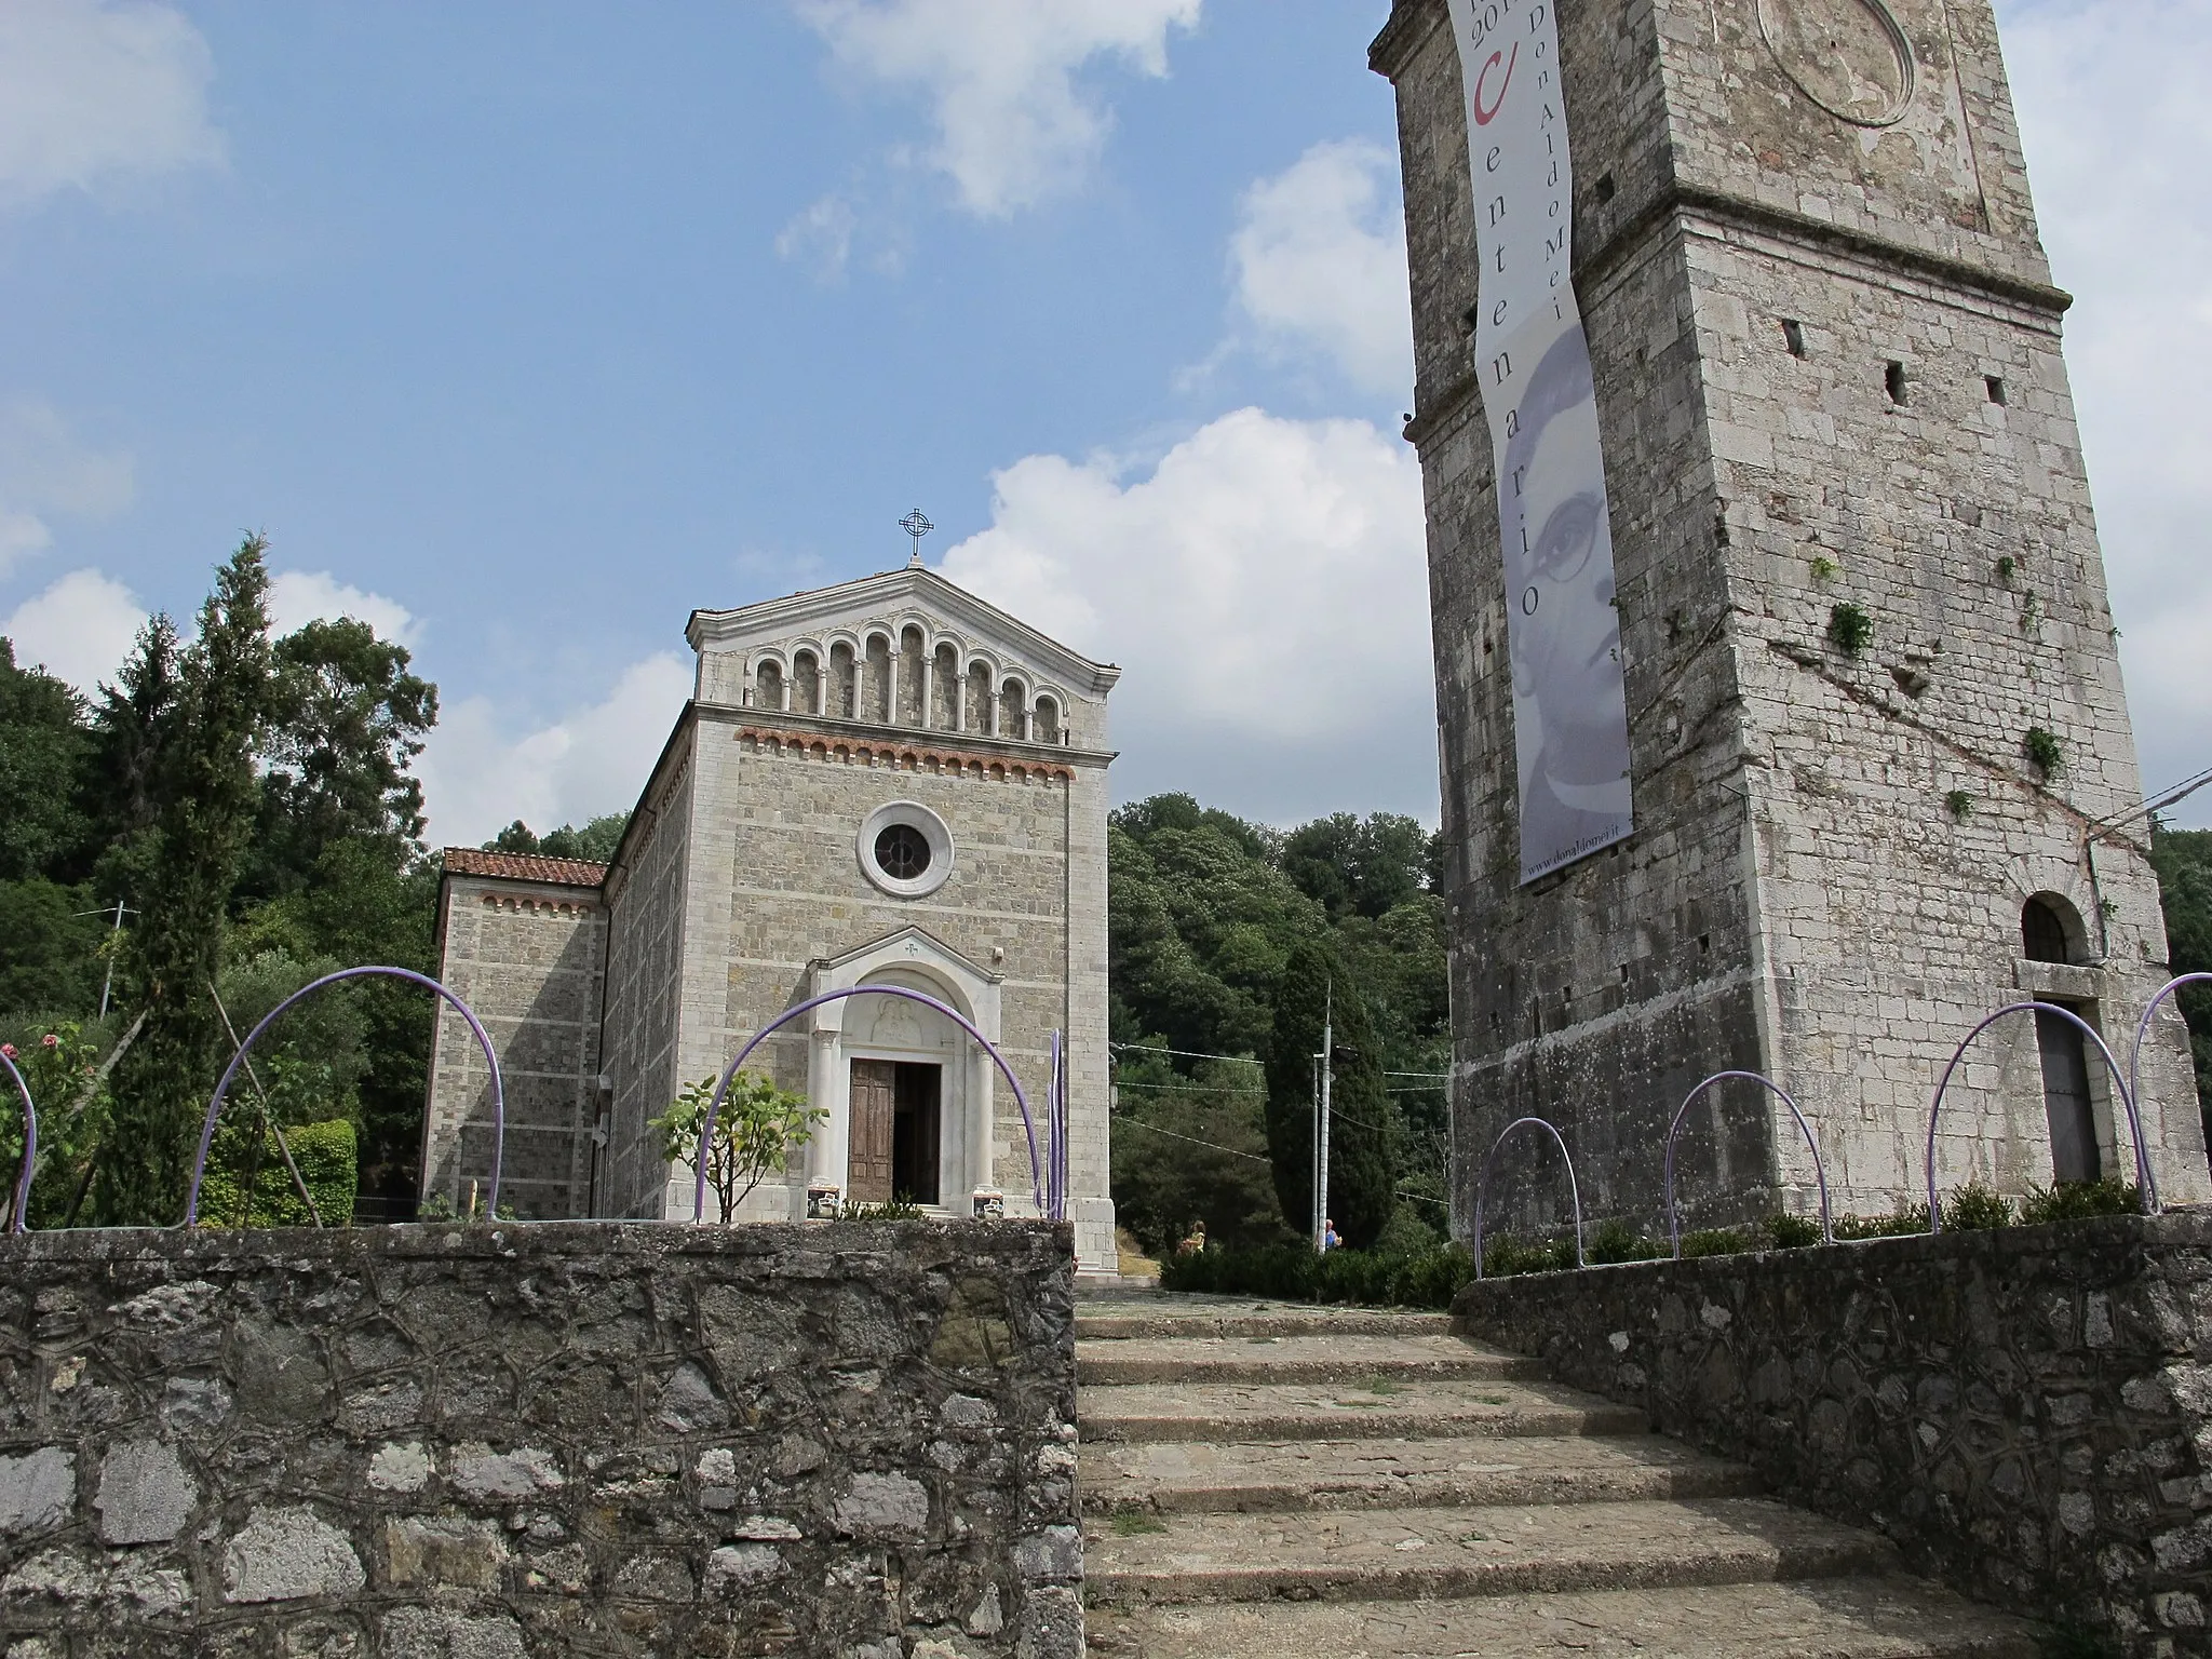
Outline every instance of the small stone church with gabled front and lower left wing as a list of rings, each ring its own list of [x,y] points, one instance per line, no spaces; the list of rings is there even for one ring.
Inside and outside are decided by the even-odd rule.
[[[748,1064],[823,1119],[737,1221],[827,1203],[1035,1214],[1053,1035],[1068,1208],[1115,1265],[1106,1152],[1106,695],[1117,672],[933,571],[692,613],[690,703],[608,865],[451,847],[440,978],[484,1022],[507,1102],[502,1203],[692,1217],[650,1119],[785,1009]],[[1033,1150],[1035,1148],[1035,1150]],[[489,1073],[440,1013],[422,1197],[491,1170]],[[710,1194],[708,1203],[714,1199]]]

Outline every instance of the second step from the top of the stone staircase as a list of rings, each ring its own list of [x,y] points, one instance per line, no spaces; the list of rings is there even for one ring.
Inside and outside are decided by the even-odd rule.
[[[1464,1336],[1128,1336],[1075,1345],[1075,1380],[1365,1383],[1367,1378],[1542,1378],[1544,1363]]]

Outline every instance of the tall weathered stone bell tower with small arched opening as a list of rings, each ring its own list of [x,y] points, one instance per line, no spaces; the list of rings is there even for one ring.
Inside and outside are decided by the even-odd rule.
[[[1559,0],[1546,86],[1573,139],[1632,830],[1531,876],[1526,635],[1475,341],[1493,296],[1473,168],[1498,153],[1469,148],[1471,93],[1486,122],[1511,62],[1484,82],[1460,42],[1551,27],[1542,11],[1398,0],[1369,58],[1398,93],[1413,274],[1458,1230],[1526,1113],[1562,1128],[1590,1214],[1650,1223],[1674,1108],[1730,1066],[1796,1095],[1838,1212],[1887,1210],[1924,1186],[1936,1077],[1980,1015],[2059,1002],[2126,1066],[2166,980],[2143,825],[2106,825],[2141,785],[2068,296],[1995,20],[1989,0]],[[1734,1088],[1683,1126],[1688,1212],[1809,1210],[1790,1115]],[[2163,1197],[2212,1197],[2170,1011],[2141,1115]],[[1555,1159],[1509,1150],[1491,1212],[1564,1210]],[[2053,1018],[1986,1033],[1936,1166],[2008,1192],[2132,1179],[2095,1044]]]

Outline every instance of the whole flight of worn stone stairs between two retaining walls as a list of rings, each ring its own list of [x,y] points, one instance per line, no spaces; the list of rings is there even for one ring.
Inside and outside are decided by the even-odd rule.
[[[1075,1356],[1095,1655],[2039,1652],[1442,1314],[1102,1292]]]

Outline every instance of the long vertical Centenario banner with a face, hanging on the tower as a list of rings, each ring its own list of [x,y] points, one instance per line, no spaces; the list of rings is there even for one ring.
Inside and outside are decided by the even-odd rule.
[[[1498,462],[1520,869],[1635,830],[1628,688],[1590,347],[1575,307],[1555,0],[1451,0],[1475,181],[1475,372]]]

